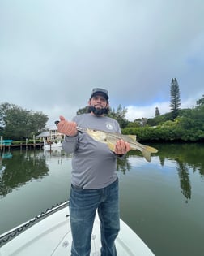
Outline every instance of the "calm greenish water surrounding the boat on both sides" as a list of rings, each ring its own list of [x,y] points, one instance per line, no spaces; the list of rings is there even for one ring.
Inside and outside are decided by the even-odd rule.
[[[118,163],[121,219],[156,256],[204,255],[204,145],[154,145],[147,163]],[[63,151],[12,151],[0,158],[0,233],[70,194],[71,158]]]

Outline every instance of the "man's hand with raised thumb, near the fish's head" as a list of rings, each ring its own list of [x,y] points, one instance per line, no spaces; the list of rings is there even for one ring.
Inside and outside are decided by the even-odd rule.
[[[58,132],[70,137],[77,135],[77,124],[75,122],[66,121],[66,119],[60,115],[60,122],[57,124]]]

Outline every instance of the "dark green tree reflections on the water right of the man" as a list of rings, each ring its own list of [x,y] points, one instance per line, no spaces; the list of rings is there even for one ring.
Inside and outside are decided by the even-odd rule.
[[[204,145],[198,143],[192,144],[158,144],[154,145],[159,149],[159,164],[165,168],[165,163],[174,163],[174,167],[178,173],[180,180],[181,193],[185,197],[185,202],[191,199],[192,188],[189,176],[189,169],[193,172],[198,171],[201,178],[204,178]],[[129,156],[137,157],[138,152],[131,151]],[[130,171],[131,164],[128,156],[123,161],[118,161],[117,170]],[[139,163],[137,163],[139,166]],[[168,163],[167,163],[168,165]]]

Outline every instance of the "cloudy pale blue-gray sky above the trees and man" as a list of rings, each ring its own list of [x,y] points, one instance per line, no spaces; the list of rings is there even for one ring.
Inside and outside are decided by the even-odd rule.
[[[108,89],[130,121],[204,94],[203,0],[1,0],[0,104],[70,120]]]

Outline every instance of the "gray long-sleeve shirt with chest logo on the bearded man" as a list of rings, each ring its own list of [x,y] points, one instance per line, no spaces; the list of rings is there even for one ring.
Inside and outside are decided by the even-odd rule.
[[[121,132],[117,120],[91,114],[77,115],[74,122],[82,128],[92,128],[106,132]],[[72,184],[83,189],[101,189],[117,179],[117,157],[108,145],[95,141],[86,132],[76,137],[65,137],[62,143],[72,158]]]

